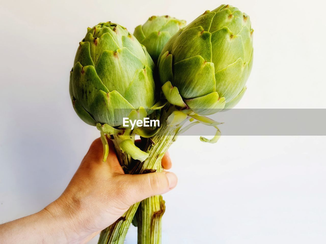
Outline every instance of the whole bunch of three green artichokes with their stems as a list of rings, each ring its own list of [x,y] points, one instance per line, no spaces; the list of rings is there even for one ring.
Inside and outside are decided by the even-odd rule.
[[[126,173],[162,170],[162,156],[191,126],[213,126],[215,137],[200,139],[217,141],[220,123],[204,115],[230,109],[243,97],[253,61],[252,40],[249,16],[230,5],[207,10],[188,25],[152,16],[134,34],[119,24],[99,23],[88,28],[79,43],[70,73],[73,107],[84,122],[100,130],[104,158],[107,134]],[[125,117],[147,116],[159,118],[160,127],[123,127]],[[184,127],[187,121],[192,123]],[[142,150],[134,145],[136,134],[147,142]],[[162,197],[139,204],[103,230],[99,243],[123,243],[132,220],[138,226],[138,243],[161,243]]]

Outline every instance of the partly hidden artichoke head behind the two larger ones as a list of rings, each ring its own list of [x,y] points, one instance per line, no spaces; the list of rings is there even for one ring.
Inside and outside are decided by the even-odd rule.
[[[185,20],[178,20],[168,15],[152,16],[143,25],[135,28],[134,36],[146,47],[153,61],[157,63],[165,44],[185,25]]]

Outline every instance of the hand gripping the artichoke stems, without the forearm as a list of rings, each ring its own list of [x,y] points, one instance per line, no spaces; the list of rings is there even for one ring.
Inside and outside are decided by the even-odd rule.
[[[124,174],[116,157],[113,143],[103,162],[100,138],[90,146],[80,167],[64,193],[43,211],[54,218],[66,216],[65,229],[69,243],[83,242],[114,223],[128,208],[147,197],[173,189],[177,177],[171,172],[154,172],[140,175]],[[165,169],[171,168],[168,154],[162,159]]]

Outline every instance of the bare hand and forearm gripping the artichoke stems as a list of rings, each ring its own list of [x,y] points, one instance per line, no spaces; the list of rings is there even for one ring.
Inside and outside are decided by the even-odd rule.
[[[174,173],[124,174],[112,142],[103,162],[102,142],[90,146],[63,194],[43,210],[0,225],[1,243],[87,243],[128,208],[164,194],[177,184]],[[162,159],[171,168],[169,154]]]

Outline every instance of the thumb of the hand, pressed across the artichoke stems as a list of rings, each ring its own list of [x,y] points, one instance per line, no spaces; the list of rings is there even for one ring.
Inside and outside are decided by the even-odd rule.
[[[120,175],[128,182],[127,195],[130,205],[154,195],[161,195],[172,190],[177,182],[177,176],[169,171],[148,174]]]

